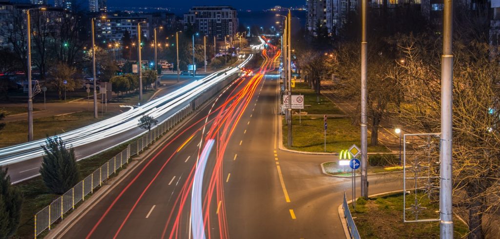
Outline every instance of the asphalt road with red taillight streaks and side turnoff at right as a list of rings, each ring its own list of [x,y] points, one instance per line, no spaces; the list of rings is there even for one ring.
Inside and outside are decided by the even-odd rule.
[[[320,173],[332,156],[277,149],[278,52],[267,53],[57,238],[343,238],[350,179]],[[370,193],[397,179],[369,177]]]

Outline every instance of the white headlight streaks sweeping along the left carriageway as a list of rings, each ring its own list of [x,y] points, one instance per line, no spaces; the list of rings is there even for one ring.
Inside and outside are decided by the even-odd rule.
[[[130,109],[122,114],[102,120],[100,122],[85,126],[73,131],[59,134],[68,145],[73,148],[85,144],[93,143],[110,136],[114,136],[137,127],[137,121],[142,115],[149,115],[153,118],[162,116],[175,107],[182,104],[188,105],[189,101],[204,90],[220,82],[225,77],[239,71],[239,68],[246,65],[253,55],[249,55],[237,67],[227,67],[216,71],[202,79],[195,80],[165,96],[150,101],[142,106]],[[222,74],[225,72],[226,74]],[[220,75],[218,75],[220,74]],[[168,120],[164,119],[162,122]],[[138,136],[145,134],[142,131]],[[41,145],[45,143],[44,139],[23,143],[0,149],[0,166],[17,163],[32,158],[41,157],[43,150]]]

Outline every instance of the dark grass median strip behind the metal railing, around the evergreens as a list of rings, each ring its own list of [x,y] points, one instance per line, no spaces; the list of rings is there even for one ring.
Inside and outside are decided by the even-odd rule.
[[[110,150],[78,162],[80,180],[98,169],[109,159],[127,147],[128,143],[121,144]],[[113,175],[114,176],[114,175]],[[21,219],[14,238],[33,238],[34,214],[48,206],[54,199],[60,197],[50,192],[41,177],[32,178],[15,184],[14,188],[22,194]]]

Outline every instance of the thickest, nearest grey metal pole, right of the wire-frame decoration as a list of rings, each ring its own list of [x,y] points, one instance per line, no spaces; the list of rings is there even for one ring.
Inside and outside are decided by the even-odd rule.
[[[444,0],[443,9],[443,54],[441,56],[441,163],[439,208],[439,231],[441,239],[453,238],[452,212],[452,113],[453,113],[453,53],[452,46],[452,18],[453,0]]]

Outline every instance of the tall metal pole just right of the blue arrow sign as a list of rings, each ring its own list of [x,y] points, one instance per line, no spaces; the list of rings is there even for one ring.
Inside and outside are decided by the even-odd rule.
[[[366,0],[361,0],[361,197],[368,198],[367,183],[367,127],[366,127]]]

